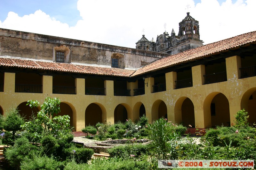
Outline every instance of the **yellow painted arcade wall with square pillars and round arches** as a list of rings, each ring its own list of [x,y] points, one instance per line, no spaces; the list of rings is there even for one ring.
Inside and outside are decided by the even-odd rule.
[[[174,89],[174,82],[177,74],[170,72],[165,74],[166,91],[152,93],[154,78],[145,78],[145,94],[140,96],[114,96],[114,81],[105,80],[104,87],[106,95],[85,95],[85,79],[76,78],[74,84],[77,94],[52,94],[52,76],[42,76],[43,93],[15,93],[15,73],[4,73],[4,92],[0,92],[0,106],[5,113],[9,107],[17,107],[20,103],[28,100],[38,100],[43,103],[46,97],[58,97],[61,102],[66,103],[73,113],[73,126],[76,131],[80,131],[85,126],[85,111],[92,104],[97,104],[102,110],[102,119],[106,118],[107,122],[114,123],[114,110],[122,104],[127,110],[128,118],[137,119],[141,103],[145,106],[146,116],[149,122],[158,118],[164,102],[166,105],[168,121],[182,122],[182,116],[177,114],[179,110],[188,112],[188,108],[182,108],[186,98],[189,98],[194,105],[195,127],[207,128],[212,126],[209,107],[212,99],[217,94],[223,94],[228,101],[229,116],[231,125],[234,124],[234,114],[241,110],[241,105],[247,103],[249,112],[255,113],[255,100],[249,101],[251,94],[255,96],[256,77],[239,79],[239,65],[241,65],[239,56],[226,58],[227,78],[228,80],[220,83],[203,85],[204,65],[192,67],[193,87]],[[162,78],[161,78],[162,79]],[[127,88],[135,88],[134,82],[127,83]],[[131,89],[132,90],[132,89]],[[247,94],[248,93],[248,94]],[[248,95],[248,99],[247,99]],[[186,103],[186,101],[185,101]],[[250,103],[248,105],[248,103]],[[138,105],[138,107],[137,107]],[[160,108],[159,108],[160,106]],[[227,106],[227,103],[225,104]],[[175,110],[175,108],[177,110]],[[69,111],[71,112],[71,110]],[[98,108],[99,109],[99,108]],[[137,111],[136,111],[137,109]],[[92,112],[92,114],[94,114]],[[252,116],[251,116],[252,117]],[[91,116],[93,118],[93,115]],[[191,120],[192,121],[192,120]],[[227,122],[225,120],[225,122]]]

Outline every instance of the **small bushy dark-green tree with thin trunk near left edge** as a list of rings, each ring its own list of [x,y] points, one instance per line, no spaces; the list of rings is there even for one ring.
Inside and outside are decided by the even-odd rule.
[[[24,123],[24,119],[20,116],[16,108],[7,111],[6,116],[2,117],[1,126],[4,130],[12,131],[12,139],[14,139],[16,131],[20,130],[20,125]]]

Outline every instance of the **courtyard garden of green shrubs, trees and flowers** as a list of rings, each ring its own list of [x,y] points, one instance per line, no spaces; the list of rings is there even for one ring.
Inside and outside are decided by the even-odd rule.
[[[39,107],[29,100],[30,107]],[[186,134],[187,127],[160,118],[148,123],[126,120],[115,124],[97,123],[82,130],[86,138],[100,141],[129,139],[107,149],[108,158],[92,157],[92,149],[73,141],[69,116],[60,116],[60,100],[46,98],[41,110],[24,120],[14,108],[0,118],[0,134],[8,169],[24,170],[155,170],[158,160],[225,159],[256,160],[256,129],[248,113],[236,113],[234,127],[216,127]],[[189,127],[189,125],[187,125]],[[140,143],[141,139],[147,143]],[[255,167],[254,167],[255,168]],[[161,168],[162,169],[162,168]]]

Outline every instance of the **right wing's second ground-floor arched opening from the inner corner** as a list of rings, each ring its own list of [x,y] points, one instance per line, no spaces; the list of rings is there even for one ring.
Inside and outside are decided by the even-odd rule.
[[[161,117],[167,119],[167,106],[163,100],[156,100],[153,103],[151,114],[152,114],[152,121],[157,120]]]

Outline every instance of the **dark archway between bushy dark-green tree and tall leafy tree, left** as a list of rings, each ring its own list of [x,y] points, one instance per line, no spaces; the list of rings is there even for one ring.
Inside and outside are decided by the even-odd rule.
[[[39,108],[31,108],[29,105],[27,105],[27,102],[22,102],[19,104],[17,109],[19,110],[19,114],[24,117],[25,121],[30,121],[32,116],[37,117],[37,112],[40,110]]]

